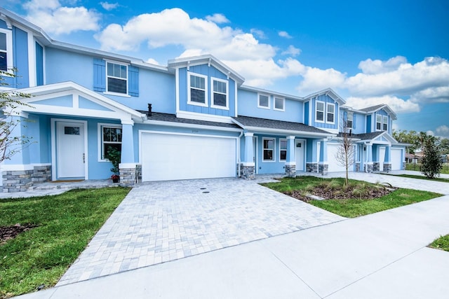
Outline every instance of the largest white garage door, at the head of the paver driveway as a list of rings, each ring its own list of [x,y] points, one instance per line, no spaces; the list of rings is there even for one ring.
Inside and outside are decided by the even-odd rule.
[[[236,176],[236,139],[142,134],[142,181]]]

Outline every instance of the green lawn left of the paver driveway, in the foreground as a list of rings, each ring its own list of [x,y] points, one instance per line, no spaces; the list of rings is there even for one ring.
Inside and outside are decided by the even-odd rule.
[[[0,245],[0,298],[54,286],[129,188],[76,189],[0,200],[0,226],[39,225]]]

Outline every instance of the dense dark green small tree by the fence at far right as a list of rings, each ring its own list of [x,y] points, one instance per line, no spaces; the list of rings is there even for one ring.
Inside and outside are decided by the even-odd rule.
[[[440,175],[443,167],[438,139],[427,134],[421,134],[420,139],[424,153],[421,162],[421,172],[429,179],[434,179],[435,176]]]

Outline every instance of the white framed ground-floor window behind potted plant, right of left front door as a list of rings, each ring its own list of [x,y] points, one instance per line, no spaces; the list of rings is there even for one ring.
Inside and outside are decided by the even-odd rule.
[[[109,146],[121,151],[121,125],[98,123],[98,160],[106,162],[105,155]]]

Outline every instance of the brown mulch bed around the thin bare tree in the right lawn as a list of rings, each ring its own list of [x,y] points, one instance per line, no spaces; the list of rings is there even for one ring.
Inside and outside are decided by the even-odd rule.
[[[396,188],[370,188],[367,190],[366,194],[360,195],[358,193],[354,194],[354,188],[349,187],[347,191],[343,192],[338,189],[326,188],[323,186],[316,186],[314,190],[310,192],[311,195],[316,195],[319,197],[323,197],[325,200],[349,200],[349,199],[361,199],[369,200],[373,198],[382,197],[396,190]],[[310,197],[304,196],[300,191],[289,191],[285,193],[291,197],[296,198],[297,200],[302,200],[303,202],[310,202],[313,200]]]

